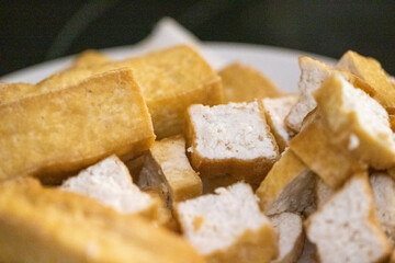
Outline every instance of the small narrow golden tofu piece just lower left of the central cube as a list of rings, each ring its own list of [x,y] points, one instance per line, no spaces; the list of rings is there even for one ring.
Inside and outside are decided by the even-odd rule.
[[[154,142],[138,180],[142,188],[161,188],[169,207],[202,194],[202,180],[188,160],[181,135]]]

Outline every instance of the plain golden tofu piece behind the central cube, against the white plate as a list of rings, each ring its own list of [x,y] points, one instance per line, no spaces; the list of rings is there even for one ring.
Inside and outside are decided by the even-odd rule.
[[[224,83],[226,102],[251,102],[283,94],[269,78],[246,65],[230,64],[218,75]]]

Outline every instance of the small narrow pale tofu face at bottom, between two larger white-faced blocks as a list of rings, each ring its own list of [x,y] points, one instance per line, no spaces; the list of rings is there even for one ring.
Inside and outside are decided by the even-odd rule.
[[[292,253],[303,235],[302,217],[293,213],[281,213],[270,217],[279,233],[279,256],[276,262]]]

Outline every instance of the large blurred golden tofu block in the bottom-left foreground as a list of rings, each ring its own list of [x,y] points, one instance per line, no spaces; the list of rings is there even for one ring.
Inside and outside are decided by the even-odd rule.
[[[0,262],[204,263],[187,241],[32,178],[0,185]]]

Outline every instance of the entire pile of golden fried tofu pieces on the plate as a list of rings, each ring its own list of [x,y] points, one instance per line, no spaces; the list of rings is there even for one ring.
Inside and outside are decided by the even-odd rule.
[[[395,83],[298,62],[297,94],[185,45],[1,83],[0,262],[395,262]]]

